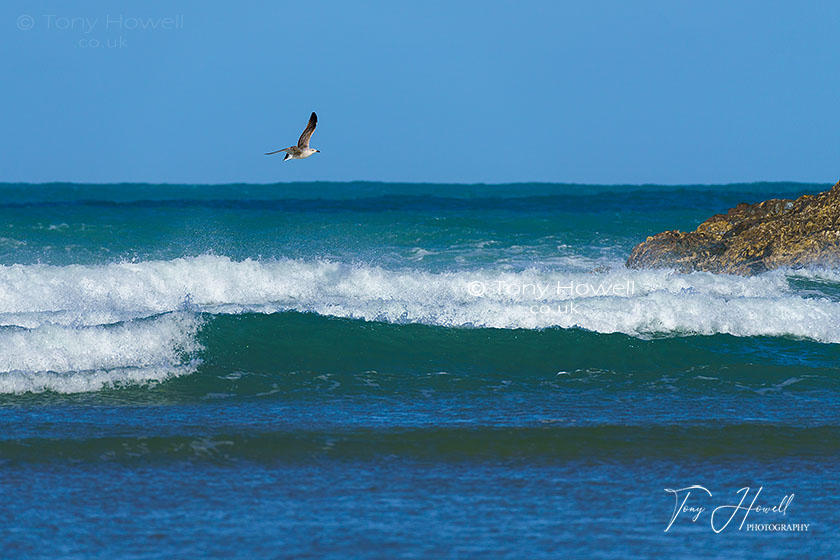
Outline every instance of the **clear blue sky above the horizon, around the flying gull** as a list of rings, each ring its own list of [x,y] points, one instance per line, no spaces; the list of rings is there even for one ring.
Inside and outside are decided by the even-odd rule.
[[[4,0],[0,181],[833,182],[838,29],[812,1]],[[262,155],[311,111],[322,153]]]

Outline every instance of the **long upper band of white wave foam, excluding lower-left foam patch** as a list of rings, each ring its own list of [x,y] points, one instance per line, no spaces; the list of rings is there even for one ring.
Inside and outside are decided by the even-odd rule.
[[[827,275],[830,278],[830,275]],[[221,256],[0,268],[0,325],[92,326],[173,311],[312,312],[443,327],[579,327],[632,336],[794,336],[840,342],[840,302],[752,278],[668,271],[430,273]]]

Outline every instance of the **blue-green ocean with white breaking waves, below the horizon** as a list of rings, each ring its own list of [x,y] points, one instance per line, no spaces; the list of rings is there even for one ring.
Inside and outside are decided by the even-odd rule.
[[[0,556],[836,557],[840,271],[624,266],[828,188],[2,184]]]

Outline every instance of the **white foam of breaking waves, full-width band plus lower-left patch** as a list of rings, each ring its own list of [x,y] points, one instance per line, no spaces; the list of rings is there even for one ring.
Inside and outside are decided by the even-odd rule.
[[[774,271],[750,278],[623,266],[601,273],[431,273],[209,255],[100,266],[0,267],[0,374],[5,376],[0,391],[27,386],[21,372],[40,375],[26,378],[32,387],[55,390],[113,383],[119,375],[156,379],[161,371],[182,367],[183,354],[196,349],[198,312],[295,310],[447,327],[581,327],[639,337],[728,333],[840,343],[836,297],[822,297],[813,287],[807,294],[791,287],[791,276],[808,274],[836,287],[836,278],[826,271]],[[141,370],[150,373],[138,374]],[[60,376],[69,372],[99,373],[62,385]]]

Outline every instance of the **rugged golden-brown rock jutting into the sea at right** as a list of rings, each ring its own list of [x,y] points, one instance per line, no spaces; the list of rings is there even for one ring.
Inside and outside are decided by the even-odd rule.
[[[796,200],[741,203],[692,232],[665,231],[630,253],[630,268],[751,275],[781,266],[840,264],[840,182]]]

